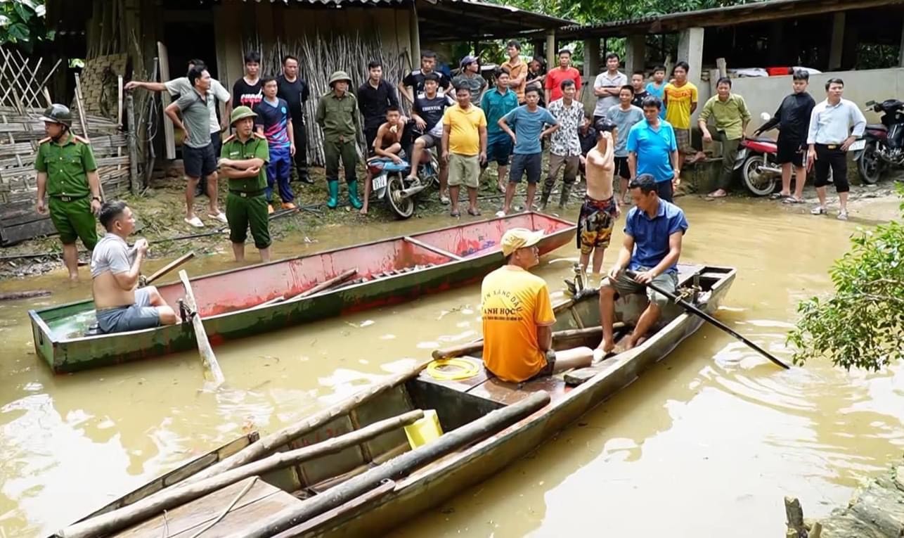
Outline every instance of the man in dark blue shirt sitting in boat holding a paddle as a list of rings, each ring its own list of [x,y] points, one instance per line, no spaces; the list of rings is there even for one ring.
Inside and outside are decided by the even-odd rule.
[[[650,304],[637,320],[634,332],[628,338],[626,349],[637,345],[659,318],[662,307],[668,303],[664,297],[646,284],[653,282],[657,288],[674,292],[678,286],[678,259],[688,223],[684,212],[673,203],[666,202],[656,193],[653,175],[642,174],[631,180],[628,191],[634,203],[625,219],[625,241],[618,252],[618,260],[599,288],[599,316],[603,320],[603,341],[598,349],[603,354],[613,352],[615,340],[612,325],[615,321],[616,295],[646,291]],[[629,278],[625,269],[635,271]]]

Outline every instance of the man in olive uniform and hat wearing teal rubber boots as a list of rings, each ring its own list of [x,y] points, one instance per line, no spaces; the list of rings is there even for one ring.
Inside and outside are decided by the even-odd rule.
[[[358,147],[355,136],[358,133],[358,101],[348,91],[352,84],[345,71],[336,71],[330,77],[329,93],[317,101],[316,120],[324,130],[324,157],[326,160],[326,186],[330,198],[326,207],[335,209],[339,204],[339,159],[345,169],[348,184],[348,201],[355,209],[361,209],[358,198],[358,180],[354,167],[358,164]]]

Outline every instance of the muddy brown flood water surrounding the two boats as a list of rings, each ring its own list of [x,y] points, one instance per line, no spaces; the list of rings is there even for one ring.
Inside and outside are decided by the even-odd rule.
[[[826,269],[857,222],[761,201],[679,203],[691,222],[683,261],[739,269],[720,319],[789,360],[796,303],[829,289]],[[320,229],[312,242],[299,234],[278,244],[277,255],[447,224]],[[614,256],[613,248],[607,266]],[[574,260],[569,245],[535,271],[558,294]],[[186,269],[228,267],[224,249]],[[35,357],[26,312],[89,295],[87,283],[64,280],[56,271],[0,283],[53,290],[0,303],[0,537],[51,533],[187,458],[250,429],[278,429],[480,333],[475,285],[217,347],[228,383],[220,392],[202,391],[196,353],[54,376]],[[780,536],[783,496],[799,496],[807,516],[827,514],[900,454],[902,375],[824,361],[782,371],[704,326],[529,457],[394,534]]]

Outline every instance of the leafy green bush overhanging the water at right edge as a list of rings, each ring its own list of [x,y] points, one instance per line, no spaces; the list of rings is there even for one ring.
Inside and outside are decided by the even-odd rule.
[[[904,197],[904,188],[898,192]],[[900,212],[904,218],[904,203]],[[862,231],[851,243],[829,270],[833,295],[797,307],[801,318],[788,335],[796,364],[824,356],[847,369],[879,370],[904,359],[904,224]]]

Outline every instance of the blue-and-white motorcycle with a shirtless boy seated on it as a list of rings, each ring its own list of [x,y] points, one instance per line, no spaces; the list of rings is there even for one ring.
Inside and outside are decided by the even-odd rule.
[[[392,212],[400,219],[408,219],[414,214],[416,194],[433,184],[439,184],[439,161],[435,152],[429,152],[429,160],[422,162],[418,178],[408,176],[410,165],[400,164],[391,159],[376,158],[367,163],[373,175],[371,195],[377,200],[385,200]]]

